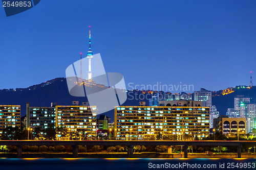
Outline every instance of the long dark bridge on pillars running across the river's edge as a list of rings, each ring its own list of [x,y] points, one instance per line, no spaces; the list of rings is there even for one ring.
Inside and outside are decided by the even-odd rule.
[[[78,145],[122,145],[127,146],[127,157],[133,157],[133,146],[135,145],[167,145],[184,146],[184,158],[187,158],[187,148],[193,146],[234,146],[238,150],[238,158],[241,158],[243,145],[256,145],[256,141],[169,141],[169,140],[0,140],[0,145],[15,145],[17,147],[17,157],[22,158],[23,145],[71,145],[73,147],[73,157],[78,157]],[[0,156],[1,157],[1,156]]]

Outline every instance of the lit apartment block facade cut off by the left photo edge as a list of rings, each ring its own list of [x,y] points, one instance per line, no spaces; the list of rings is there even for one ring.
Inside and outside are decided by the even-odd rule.
[[[0,133],[9,126],[20,128],[20,105],[0,105]]]

